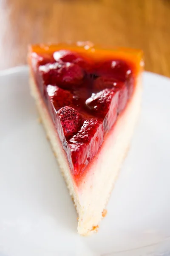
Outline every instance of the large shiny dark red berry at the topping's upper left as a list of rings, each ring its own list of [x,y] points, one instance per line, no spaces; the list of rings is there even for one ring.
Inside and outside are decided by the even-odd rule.
[[[84,77],[82,68],[70,62],[48,63],[39,70],[46,85],[56,84],[64,89],[79,85]]]

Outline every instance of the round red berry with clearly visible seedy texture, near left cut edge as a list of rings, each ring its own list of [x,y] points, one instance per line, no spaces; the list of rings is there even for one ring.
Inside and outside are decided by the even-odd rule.
[[[66,139],[79,131],[81,117],[77,110],[66,106],[58,111],[58,116]]]

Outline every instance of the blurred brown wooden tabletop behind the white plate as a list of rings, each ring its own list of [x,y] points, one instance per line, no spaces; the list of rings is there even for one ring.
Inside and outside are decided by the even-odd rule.
[[[142,48],[170,76],[169,0],[0,0],[0,69],[26,64],[30,43],[93,41]]]

